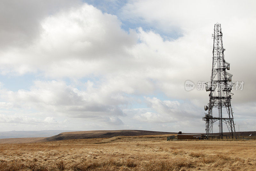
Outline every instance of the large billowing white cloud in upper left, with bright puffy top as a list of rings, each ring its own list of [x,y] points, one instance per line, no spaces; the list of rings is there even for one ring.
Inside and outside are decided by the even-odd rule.
[[[87,4],[60,11],[41,21],[35,43],[2,51],[2,72],[43,71],[52,77],[79,78],[113,70],[113,62],[125,62],[127,49],[137,41],[120,25],[116,16]]]

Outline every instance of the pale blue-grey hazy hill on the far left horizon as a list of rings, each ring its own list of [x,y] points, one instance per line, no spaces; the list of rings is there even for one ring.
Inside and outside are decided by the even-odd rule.
[[[76,130],[40,130],[40,131],[2,131],[2,138],[31,138],[31,137],[51,137],[61,132],[76,131]]]

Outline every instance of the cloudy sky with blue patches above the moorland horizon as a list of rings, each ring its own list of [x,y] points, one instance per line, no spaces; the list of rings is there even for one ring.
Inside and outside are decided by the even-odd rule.
[[[217,22],[232,81],[243,82],[232,90],[236,131],[255,131],[255,6],[1,1],[0,131],[205,132],[209,93],[199,85],[210,81]]]

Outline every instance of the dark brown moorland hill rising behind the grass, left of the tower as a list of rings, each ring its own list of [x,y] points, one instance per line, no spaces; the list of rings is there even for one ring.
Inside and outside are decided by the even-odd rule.
[[[58,135],[45,138],[43,141],[58,141],[68,139],[88,139],[88,138],[111,138],[116,136],[140,136],[140,135],[164,135],[177,134],[177,132],[159,132],[148,130],[91,130],[62,132]]]

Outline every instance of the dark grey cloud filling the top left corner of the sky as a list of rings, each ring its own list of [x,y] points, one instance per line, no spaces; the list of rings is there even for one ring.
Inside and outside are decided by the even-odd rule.
[[[60,9],[79,4],[78,0],[23,0],[0,2],[0,47],[26,47],[38,38],[42,28],[41,20]]]

